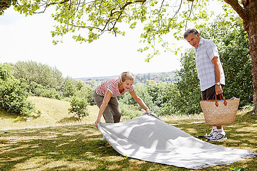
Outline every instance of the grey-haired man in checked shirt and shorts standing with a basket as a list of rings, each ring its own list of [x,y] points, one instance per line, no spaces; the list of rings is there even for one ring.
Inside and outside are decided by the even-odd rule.
[[[189,28],[184,33],[184,39],[194,47],[197,75],[200,80],[202,100],[212,100],[213,96],[223,93],[225,76],[219,59],[216,45],[208,39],[201,38],[198,31]],[[217,99],[220,96],[217,96]],[[208,141],[226,140],[227,136],[222,126],[213,127]]]

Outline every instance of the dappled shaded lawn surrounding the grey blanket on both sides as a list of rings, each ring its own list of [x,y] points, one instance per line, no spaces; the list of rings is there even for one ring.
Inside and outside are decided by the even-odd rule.
[[[55,109],[56,107],[52,107],[51,110]],[[43,111],[41,108],[41,111],[42,117],[35,120],[43,118],[47,113],[47,109]],[[70,116],[72,115],[65,114],[63,117]],[[4,118],[2,114],[0,117]],[[10,116],[6,114],[5,117],[8,119]],[[47,117],[45,119],[47,120]],[[13,120],[17,118],[14,117]],[[211,129],[201,116],[193,119],[181,117],[176,120],[166,117],[164,120],[204,141],[204,134],[209,133]],[[43,121],[44,119],[41,120]],[[22,123],[21,120],[17,122]],[[224,129],[228,140],[212,144],[257,151],[257,115],[247,115],[246,111],[240,111],[236,121],[224,126]],[[126,158],[108,142],[101,141],[101,138],[101,133],[94,124],[86,122],[82,125],[1,130],[0,171],[191,171]],[[243,166],[245,171],[257,171],[257,157],[241,160],[232,165]],[[232,165],[209,167],[201,171],[231,171],[229,168]]]

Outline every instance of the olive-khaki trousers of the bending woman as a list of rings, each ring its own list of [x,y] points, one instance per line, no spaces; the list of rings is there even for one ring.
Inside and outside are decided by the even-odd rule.
[[[98,95],[95,90],[93,92],[94,103],[100,108],[103,103],[103,96]],[[111,97],[108,105],[106,106],[103,117],[105,123],[117,123],[120,121],[121,111],[118,106],[117,97]]]

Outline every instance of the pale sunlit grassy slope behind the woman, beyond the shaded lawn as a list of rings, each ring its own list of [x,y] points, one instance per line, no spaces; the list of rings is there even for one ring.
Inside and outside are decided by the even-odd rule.
[[[73,117],[73,113],[69,113],[70,102],[35,96],[28,97],[28,101],[35,104],[36,111],[41,110],[41,116],[32,113],[31,117],[22,117],[0,110],[0,130],[92,124],[99,110],[96,105],[88,106],[90,114],[80,122],[77,117]]]

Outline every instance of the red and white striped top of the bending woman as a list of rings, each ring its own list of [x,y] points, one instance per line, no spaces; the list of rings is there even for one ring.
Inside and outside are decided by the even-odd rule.
[[[118,79],[110,79],[101,83],[95,88],[96,93],[100,96],[105,96],[107,90],[111,91],[112,97],[117,97],[117,96],[124,95],[124,93],[127,91],[129,92],[133,91],[134,87],[131,86],[129,90],[124,90],[120,93],[118,90]]]

